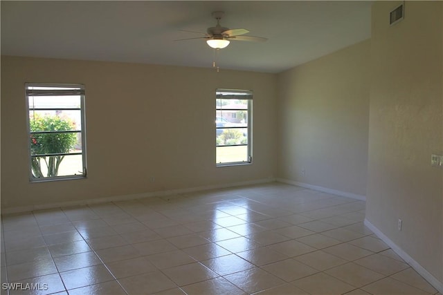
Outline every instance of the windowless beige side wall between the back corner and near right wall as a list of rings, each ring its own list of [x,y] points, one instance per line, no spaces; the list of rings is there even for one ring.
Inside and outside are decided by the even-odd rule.
[[[366,40],[278,76],[279,178],[365,196],[369,66]]]

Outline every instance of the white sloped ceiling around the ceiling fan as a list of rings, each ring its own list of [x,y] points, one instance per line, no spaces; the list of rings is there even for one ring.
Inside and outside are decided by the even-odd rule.
[[[1,1],[1,54],[213,66],[192,30],[246,28],[264,43],[232,41],[220,68],[279,73],[370,37],[372,1]]]

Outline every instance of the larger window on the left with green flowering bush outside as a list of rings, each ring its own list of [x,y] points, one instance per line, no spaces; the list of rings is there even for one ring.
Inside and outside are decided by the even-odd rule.
[[[84,87],[26,84],[30,180],[84,178]]]

